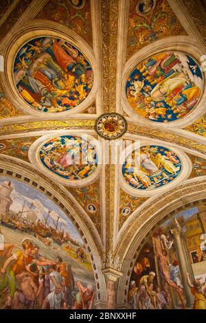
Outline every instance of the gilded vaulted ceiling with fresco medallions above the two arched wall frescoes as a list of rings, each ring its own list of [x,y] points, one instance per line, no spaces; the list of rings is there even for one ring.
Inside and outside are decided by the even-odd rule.
[[[133,257],[167,207],[205,199],[203,8],[201,0],[1,5],[0,176],[50,192],[76,226],[98,308],[128,307]]]

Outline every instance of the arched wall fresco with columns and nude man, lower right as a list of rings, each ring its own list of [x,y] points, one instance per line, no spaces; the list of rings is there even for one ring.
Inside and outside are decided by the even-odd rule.
[[[130,277],[130,307],[206,309],[205,212],[184,210],[152,231]]]

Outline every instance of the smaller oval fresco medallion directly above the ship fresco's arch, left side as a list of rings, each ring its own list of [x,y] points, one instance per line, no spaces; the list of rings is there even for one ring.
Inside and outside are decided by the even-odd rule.
[[[63,179],[87,179],[98,166],[95,147],[81,137],[62,135],[44,142],[38,148],[41,164]]]

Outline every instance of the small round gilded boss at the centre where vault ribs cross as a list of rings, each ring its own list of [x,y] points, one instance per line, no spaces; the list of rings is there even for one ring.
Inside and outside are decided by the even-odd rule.
[[[95,122],[95,131],[107,140],[122,137],[126,130],[126,119],[119,113],[104,113]]]

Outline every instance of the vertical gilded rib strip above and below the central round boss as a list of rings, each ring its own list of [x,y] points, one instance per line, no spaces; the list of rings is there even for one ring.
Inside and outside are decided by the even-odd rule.
[[[117,74],[117,24],[118,0],[102,1],[102,42],[103,42],[103,82],[104,113],[115,111],[116,74]],[[106,253],[113,249],[113,221],[115,211],[115,165],[105,165],[106,201]],[[106,258],[106,267],[110,266]]]

